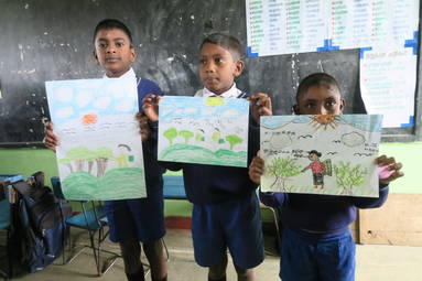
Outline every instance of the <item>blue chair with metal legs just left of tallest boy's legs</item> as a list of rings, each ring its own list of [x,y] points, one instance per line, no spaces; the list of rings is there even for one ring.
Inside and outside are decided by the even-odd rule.
[[[52,185],[53,185],[53,193],[57,198],[65,199],[62,186],[58,177],[52,177],[51,179]],[[77,256],[79,256],[86,248],[91,248],[94,253],[94,259],[96,263],[96,269],[98,277],[106,273],[116,262],[117,258],[120,256],[116,252],[111,252],[105,249],[101,249],[102,241],[107,238],[108,231],[105,231],[105,226],[107,225],[107,218],[106,213],[102,208],[102,205],[100,202],[95,201],[78,201],[82,213],[73,215],[72,217],[67,218],[65,220],[66,223],[66,237],[67,237],[67,245],[69,246],[69,249],[72,250],[72,242],[71,242],[71,227],[76,227],[79,229],[85,229],[88,233],[89,236],[89,245],[84,245],[79,251],[77,251],[72,258],[66,260],[65,258],[65,250],[63,251],[63,263],[67,264],[72,262]],[[96,238],[96,234],[98,235]],[[66,242],[64,241],[64,245]],[[65,249],[65,248],[64,248]],[[111,261],[106,264],[106,267],[101,267],[100,263],[100,252],[108,252],[112,255]]]

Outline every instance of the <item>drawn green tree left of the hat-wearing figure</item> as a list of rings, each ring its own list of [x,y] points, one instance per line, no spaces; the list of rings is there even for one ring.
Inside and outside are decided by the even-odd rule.
[[[266,173],[275,177],[275,181],[270,187],[277,185],[281,186],[282,192],[286,192],[285,182],[289,177],[299,175],[301,167],[297,165],[295,159],[273,158],[271,163],[266,166]]]

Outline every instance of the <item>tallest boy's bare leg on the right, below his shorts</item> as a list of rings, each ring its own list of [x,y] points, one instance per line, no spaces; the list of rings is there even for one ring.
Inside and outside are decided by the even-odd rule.
[[[151,267],[151,278],[153,281],[167,280],[167,263],[164,257],[163,242],[161,239],[143,244],[148,262]]]

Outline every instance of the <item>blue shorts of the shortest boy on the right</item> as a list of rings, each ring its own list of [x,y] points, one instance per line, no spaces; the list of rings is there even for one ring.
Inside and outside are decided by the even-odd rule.
[[[283,281],[354,281],[355,249],[350,231],[315,238],[284,229],[280,278]]]

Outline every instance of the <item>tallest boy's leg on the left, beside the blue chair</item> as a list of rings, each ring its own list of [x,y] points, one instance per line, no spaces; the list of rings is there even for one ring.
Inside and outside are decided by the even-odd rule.
[[[141,246],[139,241],[130,239],[120,242],[121,256],[125,262],[125,273],[129,281],[145,280],[141,263]]]

